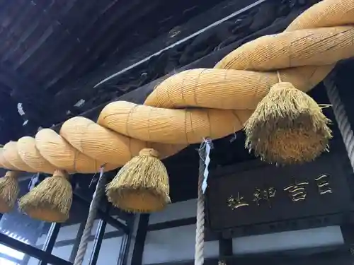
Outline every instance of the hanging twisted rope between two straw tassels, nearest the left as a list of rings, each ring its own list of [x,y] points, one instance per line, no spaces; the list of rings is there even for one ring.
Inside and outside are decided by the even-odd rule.
[[[96,214],[99,208],[99,204],[101,202],[102,197],[105,194],[105,175],[103,174],[103,168],[101,168],[100,178],[98,179],[96,190],[93,193],[92,201],[90,204],[89,216],[86,220],[86,225],[84,229],[84,233],[80,240],[79,250],[77,251],[74,265],[82,265],[84,261],[87,245],[89,243],[89,237],[91,235],[91,230],[93,227],[93,223],[96,218]]]

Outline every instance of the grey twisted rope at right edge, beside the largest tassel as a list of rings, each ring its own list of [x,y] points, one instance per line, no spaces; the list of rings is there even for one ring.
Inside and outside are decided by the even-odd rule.
[[[341,132],[344,145],[346,146],[350,165],[354,170],[354,134],[332,75],[333,73],[324,80],[324,86],[326,87],[326,92],[333,108],[334,117],[336,117],[339,131]]]

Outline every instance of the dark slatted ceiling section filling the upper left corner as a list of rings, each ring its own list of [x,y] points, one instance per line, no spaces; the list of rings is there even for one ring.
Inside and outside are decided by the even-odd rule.
[[[55,94],[217,2],[1,1],[1,62]]]

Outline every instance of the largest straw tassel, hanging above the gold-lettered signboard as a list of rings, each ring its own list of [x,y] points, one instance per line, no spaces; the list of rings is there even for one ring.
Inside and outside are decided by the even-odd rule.
[[[246,122],[246,148],[269,163],[309,162],[328,151],[330,122],[309,95],[280,81]]]

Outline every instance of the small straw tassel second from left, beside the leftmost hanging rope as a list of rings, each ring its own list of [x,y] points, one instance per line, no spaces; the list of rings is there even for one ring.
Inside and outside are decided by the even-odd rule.
[[[72,185],[69,175],[56,170],[19,201],[19,208],[31,218],[46,222],[63,223],[69,218],[72,206]]]

